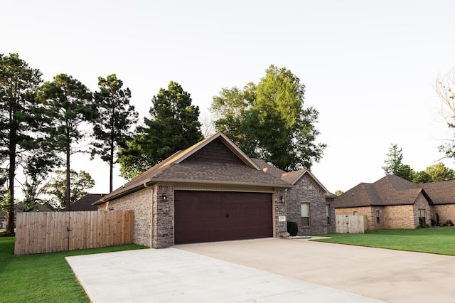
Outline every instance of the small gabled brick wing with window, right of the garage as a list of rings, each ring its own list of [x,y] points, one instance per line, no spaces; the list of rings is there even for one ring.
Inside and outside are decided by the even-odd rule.
[[[307,169],[286,172],[260,159],[253,159],[267,174],[293,185],[285,193],[287,220],[299,225],[299,234],[335,233],[335,206],[337,198],[330,193]]]

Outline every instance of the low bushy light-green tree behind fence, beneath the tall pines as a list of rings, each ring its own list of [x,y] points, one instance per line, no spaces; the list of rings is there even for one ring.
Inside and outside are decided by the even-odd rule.
[[[50,195],[52,198],[47,201],[48,205],[54,209],[65,208],[67,206],[67,191],[66,191],[66,171],[55,171],[55,175],[45,186],[43,193]],[[70,171],[71,188],[70,188],[70,204],[75,203],[83,196],[87,195],[87,189],[95,186],[95,181],[87,171]]]

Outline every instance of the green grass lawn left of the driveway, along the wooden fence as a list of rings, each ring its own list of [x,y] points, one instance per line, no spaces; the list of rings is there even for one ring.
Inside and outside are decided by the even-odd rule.
[[[65,257],[141,248],[128,244],[14,255],[14,237],[0,237],[0,302],[90,302]]]

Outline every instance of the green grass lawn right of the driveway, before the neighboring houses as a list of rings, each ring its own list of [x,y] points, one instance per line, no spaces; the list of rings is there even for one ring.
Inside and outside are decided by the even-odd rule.
[[[332,238],[316,241],[455,255],[454,227],[367,230],[365,233],[331,233],[328,236]]]

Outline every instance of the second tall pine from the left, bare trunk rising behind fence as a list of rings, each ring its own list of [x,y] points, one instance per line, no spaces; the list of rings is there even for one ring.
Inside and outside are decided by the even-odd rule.
[[[38,93],[45,112],[43,123],[48,134],[49,146],[65,154],[66,200],[70,203],[70,156],[83,150],[75,144],[90,137],[87,124],[98,117],[97,105],[92,93],[80,81],[65,74],[55,76],[53,82],[44,83]],[[85,127],[85,129],[83,128]]]

